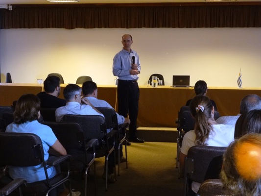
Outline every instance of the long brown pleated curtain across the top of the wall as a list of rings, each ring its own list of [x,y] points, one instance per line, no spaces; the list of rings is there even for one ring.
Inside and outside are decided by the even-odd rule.
[[[261,2],[13,5],[0,28],[261,27]]]

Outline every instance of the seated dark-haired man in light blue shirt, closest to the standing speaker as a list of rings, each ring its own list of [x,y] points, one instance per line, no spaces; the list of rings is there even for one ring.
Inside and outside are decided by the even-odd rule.
[[[95,82],[93,81],[86,81],[82,84],[82,93],[84,99],[88,99],[93,106],[95,107],[108,107],[114,109],[107,101],[98,99],[98,88]],[[118,119],[118,124],[123,124],[123,123],[130,123],[130,120],[128,118],[124,118],[123,116],[117,114],[117,119]],[[110,131],[110,130],[109,130]],[[119,145],[119,144],[118,144]],[[116,146],[118,146],[116,145]],[[130,145],[130,143],[129,143]],[[117,153],[116,153],[117,154]],[[117,156],[118,157],[118,156]],[[118,160],[116,158],[116,160]],[[122,153],[122,146],[120,150],[120,162],[125,162],[126,159],[123,157]]]

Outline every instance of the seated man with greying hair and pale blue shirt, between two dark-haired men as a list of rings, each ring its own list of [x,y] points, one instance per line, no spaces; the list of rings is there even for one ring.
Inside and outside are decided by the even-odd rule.
[[[64,98],[67,101],[66,106],[59,107],[55,111],[56,121],[61,122],[66,114],[72,115],[100,115],[103,116],[88,99],[81,98],[82,89],[76,84],[68,84],[63,91]],[[83,104],[81,104],[83,103]],[[104,117],[104,116],[103,116]],[[114,153],[108,158],[108,182],[114,183]],[[105,169],[104,169],[105,170]],[[105,172],[102,177],[105,179]]]

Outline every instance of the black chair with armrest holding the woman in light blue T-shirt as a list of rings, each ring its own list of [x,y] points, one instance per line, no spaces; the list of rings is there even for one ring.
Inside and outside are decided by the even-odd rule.
[[[69,183],[71,155],[55,157],[52,161],[45,161],[42,140],[36,134],[31,133],[0,133],[0,166],[29,167],[43,165],[46,180],[26,183],[21,186],[23,195],[46,194],[56,191],[55,188]],[[47,169],[62,162],[67,162],[67,172],[59,173],[53,178],[48,177]],[[5,176],[8,177],[8,176]]]

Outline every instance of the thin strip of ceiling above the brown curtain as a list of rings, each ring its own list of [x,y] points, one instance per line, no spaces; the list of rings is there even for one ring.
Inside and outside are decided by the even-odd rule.
[[[205,2],[205,0],[79,0],[80,3],[158,3],[158,2]],[[224,0],[227,1],[227,0]],[[261,0],[237,0],[238,2],[251,2]],[[0,0],[0,4],[54,4],[47,0]],[[59,4],[59,3],[56,3]],[[69,4],[69,3],[68,3]]]

